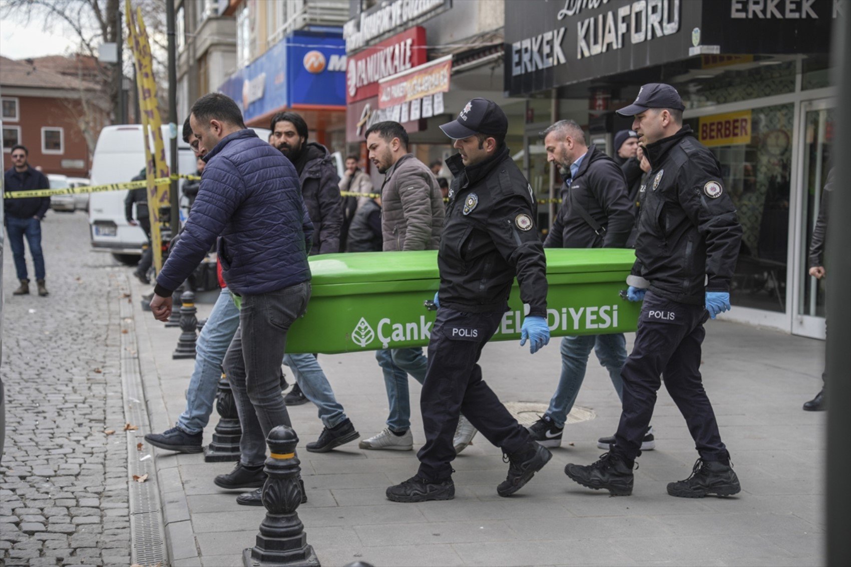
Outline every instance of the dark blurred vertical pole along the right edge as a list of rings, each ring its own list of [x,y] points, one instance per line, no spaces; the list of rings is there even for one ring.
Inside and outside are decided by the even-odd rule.
[[[851,558],[851,487],[848,471],[851,470],[851,300],[848,298],[848,281],[851,281],[851,259],[848,243],[851,242],[851,160],[844,159],[851,151],[851,108],[842,100],[851,97],[851,14],[840,15],[833,26],[833,83],[837,86],[836,108],[836,175],[831,194],[831,210],[827,218],[827,564],[847,565]]]

